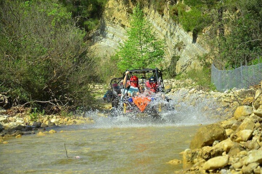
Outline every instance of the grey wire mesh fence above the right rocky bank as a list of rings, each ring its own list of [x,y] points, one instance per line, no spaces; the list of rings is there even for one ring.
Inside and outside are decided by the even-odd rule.
[[[245,88],[259,84],[262,80],[262,63],[241,66],[235,70],[218,70],[213,64],[211,67],[211,82],[218,91],[224,92],[231,88]]]

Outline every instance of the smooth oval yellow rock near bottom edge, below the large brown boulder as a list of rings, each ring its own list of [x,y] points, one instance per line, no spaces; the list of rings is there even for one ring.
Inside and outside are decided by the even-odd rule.
[[[228,158],[228,156],[216,156],[214,158],[211,158],[204,163],[203,169],[212,170],[223,168],[224,166],[228,165]]]

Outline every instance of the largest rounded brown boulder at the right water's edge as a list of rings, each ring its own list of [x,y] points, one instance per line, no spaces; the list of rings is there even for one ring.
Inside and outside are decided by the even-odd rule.
[[[218,124],[201,127],[190,144],[190,149],[212,146],[215,140],[222,141],[227,138],[226,131]]]

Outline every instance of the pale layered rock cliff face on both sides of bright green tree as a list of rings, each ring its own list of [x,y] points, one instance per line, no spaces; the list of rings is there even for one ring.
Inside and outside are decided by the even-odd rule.
[[[150,6],[146,6],[143,10],[148,21],[154,26],[153,30],[158,38],[166,42],[165,66],[167,67],[170,63],[172,55],[180,55],[176,65],[176,72],[180,73],[199,67],[197,55],[202,55],[206,51],[197,43],[192,43],[192,34],[187,34],[170,18],[168,9],[170,2],[166,2],[163,15],[158,14]],[[130,14],[134,5],[123,0],[108,0],[100,28],[92,37],[91,50],[95,55],[112,55],[119,46],[119,42],[127,39],[125,29],[129,27]],[[184,43],[182,49],[174,49],[175,44],[181,41]]]

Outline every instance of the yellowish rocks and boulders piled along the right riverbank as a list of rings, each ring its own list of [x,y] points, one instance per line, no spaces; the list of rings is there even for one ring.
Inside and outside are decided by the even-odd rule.
[[[181,152],[183,160],[171,161],[192,167],[175,173],[262,173],[262,82],[248,90],[224,93],[204,92],[195,87],[181,89],[182,83],[185,82],[174,80],[171,91],[185,90],[187,95],[215,98],[223,111],[232,112],[227,112],[228,119],[197,131],[190,147]]]

